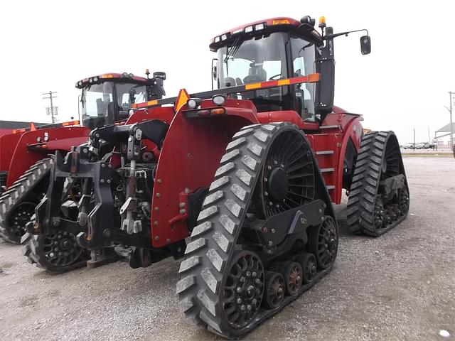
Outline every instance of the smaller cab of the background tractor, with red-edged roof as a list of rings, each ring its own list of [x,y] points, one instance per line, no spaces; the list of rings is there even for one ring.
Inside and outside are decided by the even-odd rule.
[[[164,96],[164,72],[154,72],[149,78],[124,72],[109,73],[85,78],[76,83],[82,90],[80,112],[82,125],[90,129],[124,121],[129,117],[132,104],[161,99]]]

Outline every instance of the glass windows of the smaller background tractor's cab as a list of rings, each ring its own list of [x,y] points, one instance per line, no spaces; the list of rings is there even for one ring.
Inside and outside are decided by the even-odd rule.
[[[146,86],[119,82],[89,85],[82,90],[80,102],[82,124],[95,129],[127,119],[133,103],[146,102]]]

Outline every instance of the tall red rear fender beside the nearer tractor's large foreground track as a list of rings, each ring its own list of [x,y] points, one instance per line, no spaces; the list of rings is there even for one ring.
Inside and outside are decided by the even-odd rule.
[[[204,102],[202,108],[213,106]],[[159,156],[151,207],[151,243],[156,248],[188,237],[188,194],[210,186],[232,135],[259,123],[250,101],[228,99],[227,114],[220,117],[190,119],[183,114],[188,109],[183,105],[173,117]]]

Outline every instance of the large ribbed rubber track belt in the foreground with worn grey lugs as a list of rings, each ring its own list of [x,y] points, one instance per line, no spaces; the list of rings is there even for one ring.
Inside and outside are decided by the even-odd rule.
[[[292,125],[255,124],[245,126],[232,137],[215,172],[215,180],[205,197],[198,225],[191,233],[191,242],[178,271],[180,280],[176,291],[186,318],[224,337],[242,336],[228,334],[220,317],[222,307],[218,298],[225,267],[232,258],[269,141],[279,129],[289,129],[289,126]],[[326,271],[321,276],[324,274]],[[251,329],[283,307],[262,314],[260,319],[250,323]]]

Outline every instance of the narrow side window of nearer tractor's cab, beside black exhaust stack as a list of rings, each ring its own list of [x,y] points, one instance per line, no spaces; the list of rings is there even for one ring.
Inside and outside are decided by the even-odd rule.
[[[314,44],[302,38],[291,37],[293,77],[314,73]],[[296,92],[296,110],[304,121],[316,121],[314,110],[314,83],[294,85]]]

